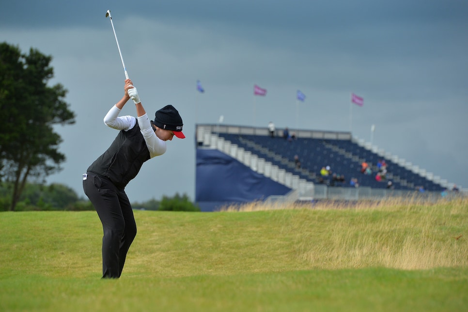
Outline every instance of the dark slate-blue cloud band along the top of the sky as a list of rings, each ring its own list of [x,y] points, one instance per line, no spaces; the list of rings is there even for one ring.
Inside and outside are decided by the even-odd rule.
[[[344,29],[362,25],[466,23],[464,0],[407,1],[269,1],[269,0],[171,0],[171,1],[58,1],[18,0],[2,3],[0,26],[50,27],[96,25],[107,10],[115,17],[149,19],[193,25],[233,24],[236,28]],[[12,14],[14,13],[14,14]],[[18,15],[19,14],[19,15]]]

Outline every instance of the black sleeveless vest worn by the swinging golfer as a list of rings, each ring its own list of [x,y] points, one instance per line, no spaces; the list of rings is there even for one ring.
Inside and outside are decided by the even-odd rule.
[[[143,163],[150,159],[138,123],[128,131],[121,130],[106,152],[88,168],[89,172],[108,177],[119,189],[137,176]]]

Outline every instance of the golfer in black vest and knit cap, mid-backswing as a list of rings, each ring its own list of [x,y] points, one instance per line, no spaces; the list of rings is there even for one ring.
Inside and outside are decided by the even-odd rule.
[[[172,105],[157,110],[155,120],[150,122],[130,79],[125,79],[124,90],[125,95],[104,117],[104,124],[120,132],[83,174],[84,192],[93,203],[104,232],[102,278],[121,276],[127,251],[137,234],[125,186],[146,160],[166,152],[167,140],[173,136],[185,138],[182,118]],[[119,117],[130,98],[135,102],[138,117]]]

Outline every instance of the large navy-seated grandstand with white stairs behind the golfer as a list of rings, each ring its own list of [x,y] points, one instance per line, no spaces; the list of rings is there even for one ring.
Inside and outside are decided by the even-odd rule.
[[[357,200],[422,194],[440,197],[450,188],[446,180],[412,163],[353,138],[350,132],[298,130],[296,139],[274,138],[266,128],[236,125],[197,125],[195,201],[202,210],[251,201],[315,199]],[[301,168],[297,169],[294,156]],[[377,182],[377,162],[387,163],[386,178]],[[373,174],[361,173],[367,162]],[[344,176],[331,183],[321,176],[322,167]],[[322,179],[321,179],[322,177]],[[359,187],[349,181],[356,178]],[[392,187],[387,188],[387,182]]]

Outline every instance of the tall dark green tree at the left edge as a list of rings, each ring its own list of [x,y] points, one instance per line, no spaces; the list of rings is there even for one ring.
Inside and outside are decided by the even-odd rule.
[[[75,123],[75,113],[64,101],[67,90],[53,78],[51,56],[31,48],[0,43],[0,178],[10,182],[15,210],[28,178],[45,181],[61,170],[65,156],[59,152],[62,138],[54,125]]]

